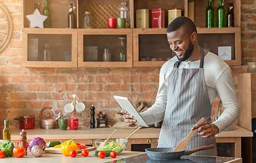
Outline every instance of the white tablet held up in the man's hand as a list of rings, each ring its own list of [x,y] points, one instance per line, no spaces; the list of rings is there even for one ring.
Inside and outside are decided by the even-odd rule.
[[[135,120],[137,120],[136,124],[148,127],[148,124],[142,118],[140,113],[133,107],[133,104],[131,104],[127,97],[114,95],[114,99],[116,99],[117,103],[119,103],[119,106],[121,106],[123,110],[126,110]]]

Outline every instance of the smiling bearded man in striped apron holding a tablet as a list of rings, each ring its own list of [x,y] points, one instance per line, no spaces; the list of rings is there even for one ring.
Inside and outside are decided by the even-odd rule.
[[[167,41],[176,56],[163,64],[156,101],[143,118],[148,124],[163,120],[158,147],[175,147],[190,130],[196,129],[187,149],[215,144],[214,136],[238,117],[239,106],[232,72],[217,55],[200,48],[194,22],[178,17],[167,27]],[[223,103],[221,116],[211,123],[211,103],[215,97]],[[125,122],[136,120],[124,112]],[[200,118],[206,121],[194,126]],[[216,155],[216,149],[196,154]]]

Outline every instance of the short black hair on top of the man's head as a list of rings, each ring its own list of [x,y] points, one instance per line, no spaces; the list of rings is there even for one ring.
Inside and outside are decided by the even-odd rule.
[[[188,31],[189,34],[192,34],[192,32],[197,33],[196,25],[194,24],[194,22],[190,18],[187,18],[185,16],[179,16],[175,18],[167,27],[167,32],[173,32],[180,27]]]

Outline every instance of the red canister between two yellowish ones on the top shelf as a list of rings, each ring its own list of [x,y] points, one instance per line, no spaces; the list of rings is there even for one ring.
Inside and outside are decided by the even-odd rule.
[[[161,8],[152,9],[152,28],[165,28],[165,10]]]

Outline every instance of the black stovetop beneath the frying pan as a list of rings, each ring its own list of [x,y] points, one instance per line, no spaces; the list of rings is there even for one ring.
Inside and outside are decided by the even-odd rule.
[[[223,163],[235,158],[223,158],[223,157],[207,157],[207,156],[182,156],[179,160],[164,160],[164,161],[154,161],[150,160],[146,154],[133,156],[130,158],[122,158],[120,160],[114,160],[106,163]]]

